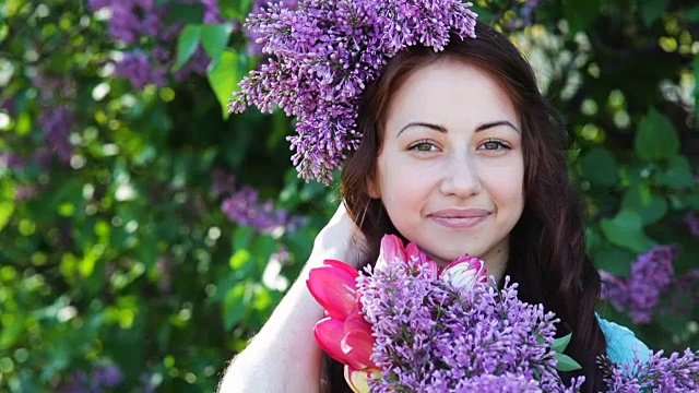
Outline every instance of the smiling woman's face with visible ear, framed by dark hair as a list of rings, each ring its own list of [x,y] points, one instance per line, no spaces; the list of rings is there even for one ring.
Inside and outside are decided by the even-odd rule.
[[[446,59],[416,70],[386,115],[370,196],[436,261],[469,253],[500,276],[524,207],[521,126],[507,93]]]

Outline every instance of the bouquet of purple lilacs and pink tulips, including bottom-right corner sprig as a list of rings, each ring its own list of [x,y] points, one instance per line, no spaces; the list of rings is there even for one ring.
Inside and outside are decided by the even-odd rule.
[[[308,287],[325,309],[315,329],[320,346],[345,366],[355,392],[578,392],[558,371],[580,366],[554,338],[558,319],[498,289],[483,261],[463,255],[439,271],[414,243],[384,236],[374,269],[325,261]],[[687,350],[631,366],[600,359],[609,392],[689,392],[699,354]]]

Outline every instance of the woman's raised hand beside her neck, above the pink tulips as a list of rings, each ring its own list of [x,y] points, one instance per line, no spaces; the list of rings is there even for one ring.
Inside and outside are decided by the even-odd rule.
[[[357,269],[366,260],[366,238],[343,202],[316,237],[309,263],[320,261],[322,264],[325,259],[336,259]]]

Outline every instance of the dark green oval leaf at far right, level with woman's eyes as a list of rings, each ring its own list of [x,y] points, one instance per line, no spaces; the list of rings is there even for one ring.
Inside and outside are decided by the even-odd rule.
[[[645,162],[673,157],[679,153],[677,130],[667,117],[651,108],[639,124],[633,148]]]

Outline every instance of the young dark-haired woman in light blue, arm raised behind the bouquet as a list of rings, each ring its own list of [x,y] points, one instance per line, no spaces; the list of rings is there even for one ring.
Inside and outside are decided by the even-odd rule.
[[[648,352],[595,314],[600,276],[567,179],[565,129],[507,37],[483,24],[476,36],[439,52],[399,52],[366,86],[362,142],[342,172],[346,212],[340,206],[320,233],[304,274],[221,391],[348,391],[335,361],[320,383],[312,327],[322,310],[305,281],[323,259],[372,263],[384,234],[416,242],[442,265],[470,253],[497,279],[512,277],[522,300],[560,318],[558,336],[572,332],[566,353],[582,370],[561,376],[584,374],[588,392],[605,390],[597,356],[627,362],[633,347]]]

